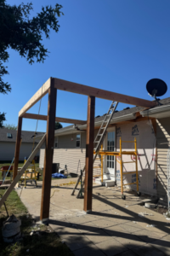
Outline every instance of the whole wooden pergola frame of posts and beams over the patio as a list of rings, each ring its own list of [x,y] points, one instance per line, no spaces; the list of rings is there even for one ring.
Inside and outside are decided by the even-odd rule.
[[[87,121],[77,119],[58,118],[55,114],[57,90],[70,91],[77,94],[88,96],[88,119]],[[42,96],[48,94],[48,115],[37,115],[33,113],[26,113]],[[93,190],[93,159],[94,159],[94,113],[95,113],[95,97],[127,103],[144,108],[153,108],[156,102],[150,102],[133,96],[126,96],[118,94],[109,90],[101,90],[87,85],[76,84],[69,81],[50,78],[37,90],[34,96],[26,103],[26,105],[19,112],[18,131],[14,154],[14,177],[18,172],[18,163],[20,155],[20,139],[22,119],[41,119],[47,120],[46,131],[46,148],[43,167],[43,181],[42,181],[42,204],[40,219],[42,221],[49,218],[49,204],[50,204],[50,189],[51,189],[51,174],[54,154],[54,124],[55,121],[84,125],[87,123],[87,138],[86,138],[86,170],[85,170],[85,185],[84,185],[84,211],[92,211],[92,190]]]

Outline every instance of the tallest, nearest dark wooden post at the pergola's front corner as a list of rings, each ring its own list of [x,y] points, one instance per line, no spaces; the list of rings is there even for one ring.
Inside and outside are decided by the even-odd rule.
[[[54,155],[54,125],[56,110],[57,90],[54,88],[54,79],[50,79],[50,88],[48,89],[48,120],[46,148],[43,166],[43,182],[42,182],[42,204],[40,219],[43,221],[49,218],[49,204],[51,192],[51,175]]]

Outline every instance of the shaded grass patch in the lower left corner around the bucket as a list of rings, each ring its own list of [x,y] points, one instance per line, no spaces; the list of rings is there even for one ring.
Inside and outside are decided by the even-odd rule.
[[[5,190],[0,190],[0,194]],[[0,232],[0,255],[1,256],[74,256],[70,249],[60,241],[59,236],[50,232],[48,226],[40,224],[35,225],[34,220],[28,214],[26,207],[20,201],[15,191],[12,191],[6,201],[8,213],[21,219],[21,232],[24,235],[21,241],[14,244],[8,244],[3,241],[2,232]],[[0,209],[0,228],[3,221],[7,219],[5,208]],[[34,234],[30,236],[31,231]]]

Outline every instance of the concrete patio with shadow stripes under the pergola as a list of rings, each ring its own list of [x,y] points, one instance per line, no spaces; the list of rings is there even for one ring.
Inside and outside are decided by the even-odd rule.
[[[170,224],[161,214],[140,206],[143,197],[126,191],[127,199],[122,201],[120,189],[94,184],[93,211],[86,214],[83,199],[71,196],[74,184],[66,184],[76,180],[52,181],[49,212],[50,227],[76,256],[170,255]],[[17,192],[20,195],[20,189]],[[42,182],[21,194],[21,201],[36,219],[41,195]],[[148,215],[141,217],[141,212]]]

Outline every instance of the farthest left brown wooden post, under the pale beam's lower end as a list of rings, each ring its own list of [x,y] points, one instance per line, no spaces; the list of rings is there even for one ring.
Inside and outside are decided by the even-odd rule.
[[[21,130],[22,130],[22,117],[19,117],[18,130],[17,130],[16,143],[15,143],[15,152],[14,152],[13,180],[17,176],[17,173],[18,173],[18,165],[19,165],[19,157],[20,157]]]

